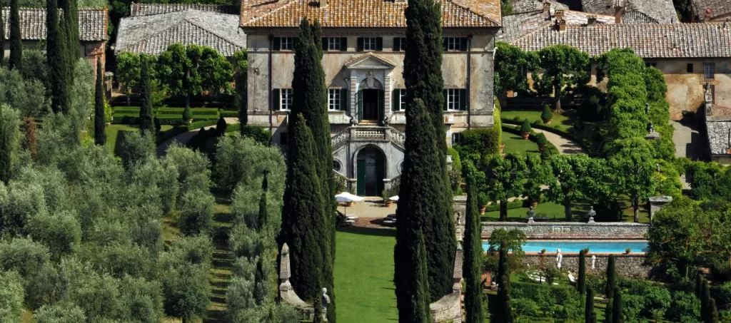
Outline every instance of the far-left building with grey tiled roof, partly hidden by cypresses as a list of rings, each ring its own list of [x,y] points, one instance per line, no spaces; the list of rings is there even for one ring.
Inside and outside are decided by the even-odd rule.
[[[45,8],[20,8],[20,36],[23,47],[45,50],[46,11]],[[5,23],[5,57],[10,56],[10,7],[3,9]],[[107,9],[79,9],[79,53],[80,57],[91,59],[96,70],[96,58],[105,61],[105,45],[109,18]],[[96,71],[95,71],[96,72]],[[95,74],[96,75],[96,74]]]

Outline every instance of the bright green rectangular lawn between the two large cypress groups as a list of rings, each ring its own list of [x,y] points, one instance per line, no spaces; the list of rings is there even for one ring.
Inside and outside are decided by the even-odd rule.
[[[338,322],[398,320],[393,286],[395,229],[346,228],[336,233]]]

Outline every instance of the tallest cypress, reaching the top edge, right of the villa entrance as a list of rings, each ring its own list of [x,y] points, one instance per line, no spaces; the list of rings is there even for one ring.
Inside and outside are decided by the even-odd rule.
[[[447,177],[447,142],[444,126],[444,80],[442,79],[442,8],[434,0],[409,0],[406,17],[406,53],[404,56],[404,83],[406,110],[414,100],[425,104],[434,132],[437,160],[430,172],[438,172],[426,185],[435,186],[439,194],[429,203],[424,236],[429,255],[429,288],[431,300],[439,300],[450,292],[452,266],[455,259],[455,227],[452,220],[452,190]],[[408,128],[408,121],[407,121]],[[434,167],[439,165],[440,167]],[[403,178],[403,176],[402,176]],[[402,184],[403,185],[403,184]],[[401,203],[399,203],[400,205]],[[399,220],[400,221],[400,220]]]

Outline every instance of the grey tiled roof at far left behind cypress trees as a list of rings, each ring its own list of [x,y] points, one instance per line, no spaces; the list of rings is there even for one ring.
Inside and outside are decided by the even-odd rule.
[[[60,10],[59,10],[60,11]],[[24,40],[44,40],[46,37],[46,12],[44,8],[20,8],[20,35]],[[63,14],[63,11],[61,11]],[[3,8],[5,39],[10,39],[10,7]],[[102,42],[107,37],[106,9],[79,9],[79,40]]]

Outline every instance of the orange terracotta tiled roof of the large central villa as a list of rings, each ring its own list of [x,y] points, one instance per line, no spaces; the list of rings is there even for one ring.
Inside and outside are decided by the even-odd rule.
[[[406,1],[327,0],[322,7],[317,0],[254,2],[243,0],[241,26],[297,27],[306,17],[323,27],[406,27]],[[498,27],[500,0],[443,0],[442,26]]]

